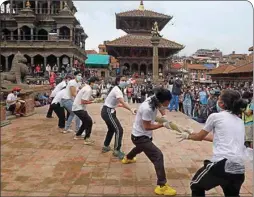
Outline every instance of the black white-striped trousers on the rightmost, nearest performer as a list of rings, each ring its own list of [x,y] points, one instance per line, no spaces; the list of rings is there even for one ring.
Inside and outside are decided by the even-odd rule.
[[[239,193],[245,176],[244,174],[225,172],[225,162],[226,159],[216,163],[204,161],[204,167],[197,171],[190,183],[192,196],[205,196],[205,191],[217,186],[221,186],[224,195],[227,197],[240,196]]]

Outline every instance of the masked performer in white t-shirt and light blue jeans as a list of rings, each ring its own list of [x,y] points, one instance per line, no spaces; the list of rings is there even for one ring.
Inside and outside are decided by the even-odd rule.
[[[74,73],[74,76],[75,76],[75,79],[72,79],[68,82],[68,85],[65,88],[65,93],[63,94],[63,97],[61,99],[61,106],[64,107],[70,114],[65,124],[65,128],[62,131],[64,134],[73,132],[73,130],[70,129],[71,122],[75,116],[75,114],[72,111],[72,105],[73,105],[73,100],[76,97],[80,87],[79,82],[81,82],[83,79],[80,71],[76,71]],[[76,120],[76,131],[78,131],[80,120],[79,118],[75,118],[75,120]]]

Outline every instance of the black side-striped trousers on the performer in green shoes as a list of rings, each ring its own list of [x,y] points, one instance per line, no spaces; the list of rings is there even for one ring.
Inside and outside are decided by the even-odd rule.
[[[114,150],[120,150],[122,147],[123,127],[116,117],[116,110],[107,106],[103,106],[101,110],[101,117],[108,127],[108,132],[104,141],[104,146],[109,146],[113,135],[115,133]]]

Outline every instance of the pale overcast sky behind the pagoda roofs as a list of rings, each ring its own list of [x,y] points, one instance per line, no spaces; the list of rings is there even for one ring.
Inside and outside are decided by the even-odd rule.
[[[0,0],[3,2],[3,0]],[[137,9],[139,1],[74,1],[85,32],[86,49],[98,50],[105,40],[125,35],[116,29],[115,13]],[[162,30],[164,38],[185,45],[180,55],[218,48],[224,54],[248,53],[253,45],[253,8],[247,1],[144,1],[145,9],[174,18]]]

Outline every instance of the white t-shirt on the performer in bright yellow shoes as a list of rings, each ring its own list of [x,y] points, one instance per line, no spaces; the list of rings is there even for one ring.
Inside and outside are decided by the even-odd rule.
[[[145,130],[143,126],[143,120],[151,121],[152,123],[155,122],[157,116],[157,109],[154,111],[149,106],[150,97],[147,98],[139,107],[137,111],[137,115],[135,117],[135,121],[133,123],[132,135],[139,137],[139,136],[153,136],[152,130]]]

